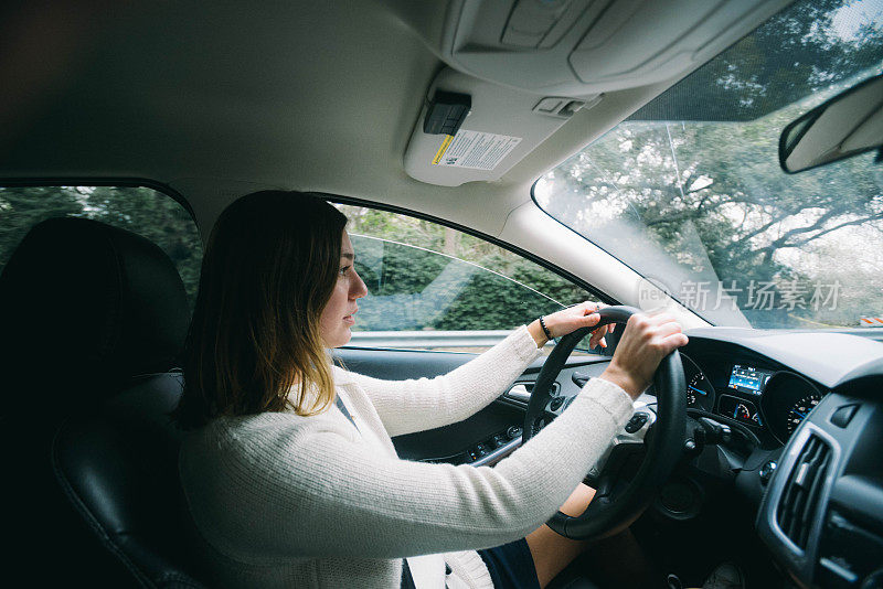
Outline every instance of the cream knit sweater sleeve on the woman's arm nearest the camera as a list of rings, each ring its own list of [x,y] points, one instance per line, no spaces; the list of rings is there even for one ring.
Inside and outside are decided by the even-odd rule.
[[[201,534],[238,561],[479,549],[544,523],[630,414],[623,389],[595,378],[493,468],[398,460],[342,420],[263,414],[210,425],[182,448],[180,470]]]

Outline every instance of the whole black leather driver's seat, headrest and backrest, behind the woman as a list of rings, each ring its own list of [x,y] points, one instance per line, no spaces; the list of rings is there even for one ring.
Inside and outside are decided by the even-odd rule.
[[[181,522],[189,322],[162,250],[82,218],[34,226],[0,275],[6,581],[201,587]],[[15,586],[15,585],[9,585]]]

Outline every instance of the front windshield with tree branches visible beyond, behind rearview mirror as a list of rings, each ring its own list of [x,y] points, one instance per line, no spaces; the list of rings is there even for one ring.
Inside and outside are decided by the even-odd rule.
[[[883,71],[883,0],[800,1],[534,186],[536,203],[704,319],[843,328],[883,315],[883,165],[797,175],[785,126]]]

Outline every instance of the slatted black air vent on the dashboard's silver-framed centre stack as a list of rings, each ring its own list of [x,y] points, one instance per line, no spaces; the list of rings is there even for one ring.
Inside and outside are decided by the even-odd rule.
[[[806,549],[812,522],[819,520],[816,512],[830,463],[831,449],[818,437],[810,436],[785,483],[776,521],[800,549]]]

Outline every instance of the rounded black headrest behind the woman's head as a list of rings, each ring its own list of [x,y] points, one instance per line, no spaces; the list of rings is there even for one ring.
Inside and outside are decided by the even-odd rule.
[[[89,219],[44,221],[0,275],[0,379],[26,387],[0,389],[49,404],[100,398],[120,378],[174,366],[189,315],[181,277],[148,239]]]

